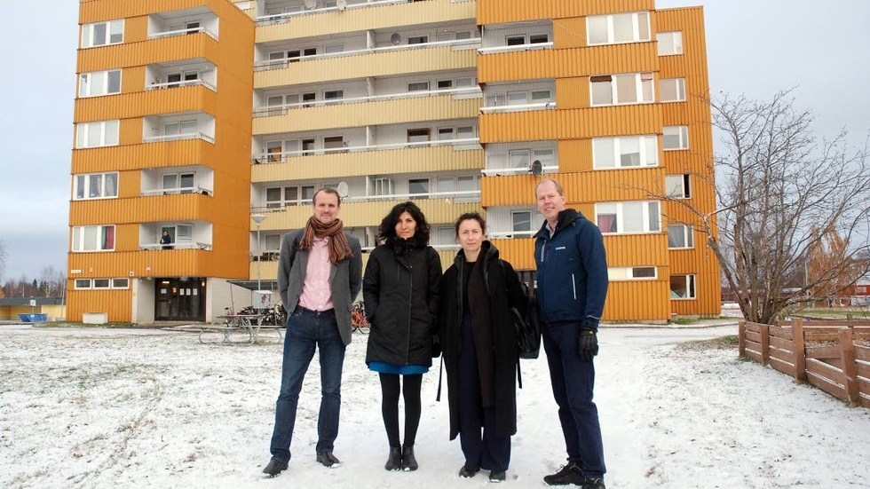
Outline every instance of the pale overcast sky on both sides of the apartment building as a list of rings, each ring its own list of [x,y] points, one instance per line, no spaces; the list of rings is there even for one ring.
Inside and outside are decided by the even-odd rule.
[[[658,0],[703,5],[710,90],[770,99],[797,87],[821,134],[845,127],[854,144],[870,130],[870,2],[867,0]],[[4,280],[66,269],[78,38],[75,0],[34,10],[5,2],[0,18],[0,240]],[[34,28],[38,20],[39,28]],[[15,80],[18,80],[17,82]]]

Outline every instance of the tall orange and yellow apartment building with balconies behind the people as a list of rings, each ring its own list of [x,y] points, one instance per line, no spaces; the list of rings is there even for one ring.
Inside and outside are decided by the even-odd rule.
[[[211,320],[249,301],[229,282],[272,288],[281,235],[327,186],[364,250],[411,199],[445,267],[455,217],[478,210],[534,275],[541,177],[605,233],[605,320],[718,314],[718,266],[681,205],[715,207],[700,8],[135,4],[81,3],[69,319]]]

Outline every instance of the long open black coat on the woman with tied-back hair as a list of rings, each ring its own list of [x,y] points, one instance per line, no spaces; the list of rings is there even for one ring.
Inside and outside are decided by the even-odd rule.
[[[510,307],[526,311],[526,296],[513,267],[498,257],[498,249],[484,241],[478,256],[483,264],[489,318],[493,327],[495,351],[495,430],[497,436],[517,432],[517,334],[510,320]],[[447,399],[450,408],[450,439],[459,434],[459,355],[462,352],[463,267],[467,266],[462,250],[454,264],[444,272],[439,286],[439,342],[444,367],[447,368]]]

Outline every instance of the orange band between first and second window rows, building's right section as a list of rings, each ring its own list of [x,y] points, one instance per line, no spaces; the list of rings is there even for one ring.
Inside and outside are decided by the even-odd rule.
[[[655,43],[483,54],[479,83],[653,72],[659,69]],[[587,89],[589,90],[589,89]]]

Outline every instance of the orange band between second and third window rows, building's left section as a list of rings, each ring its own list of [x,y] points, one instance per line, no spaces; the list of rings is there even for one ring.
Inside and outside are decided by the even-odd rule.
[[[126,70],[123,75],[127,75]],[[144,80],[140,80],[144,87]],[[76,99],[74,122],[129,119],[148,114],[205,112],[217,114],[218,95],[204,85]]]

